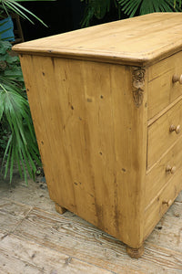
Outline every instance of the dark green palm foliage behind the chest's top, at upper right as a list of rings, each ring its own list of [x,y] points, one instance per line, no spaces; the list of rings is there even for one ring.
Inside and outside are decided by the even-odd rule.
[[[115,5],[120,18],[122,10],[127,16],[145,15],[154,12],[181,11],[182,0],[80,0],[86,2],[86,10],[82,26],[89,26],[93,17],[102,19]]]

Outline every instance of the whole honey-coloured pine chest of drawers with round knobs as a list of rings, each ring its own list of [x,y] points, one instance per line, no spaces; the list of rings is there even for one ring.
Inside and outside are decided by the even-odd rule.
[[[14,47],[56,210],[136,258],[182,189],[181,26],[157,13]]]

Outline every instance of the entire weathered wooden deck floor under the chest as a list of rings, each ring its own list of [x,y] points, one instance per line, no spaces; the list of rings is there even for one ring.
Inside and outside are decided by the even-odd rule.
[[[182,194],[132,259],[115,238],[58,215],[47,189],[31,184],[0,184],[0,273],[182,273]]]

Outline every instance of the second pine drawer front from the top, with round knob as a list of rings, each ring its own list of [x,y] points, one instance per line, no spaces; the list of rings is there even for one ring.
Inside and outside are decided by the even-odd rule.
[[[148,127],[147,168],[182,135],[182,100]]]

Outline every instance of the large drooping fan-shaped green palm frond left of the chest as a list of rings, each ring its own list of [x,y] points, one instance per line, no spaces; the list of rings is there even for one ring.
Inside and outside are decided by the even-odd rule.
[[[25,176],[26,170],[30,177],[35,176],[35,160],[40,164],[38,148],[35,141],[35,132],[30,115],[28,101],[21,95],[17,86],[7,84],[7,80],[0,77],[0,118],[4,116],[9,127],[9,138],[6,144],[3,164],[5,164],[5,177],[10,171],[12,181],[15,163]]]

